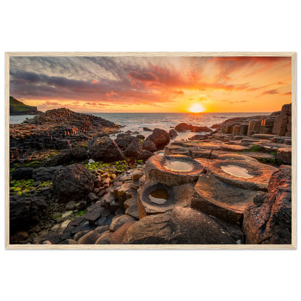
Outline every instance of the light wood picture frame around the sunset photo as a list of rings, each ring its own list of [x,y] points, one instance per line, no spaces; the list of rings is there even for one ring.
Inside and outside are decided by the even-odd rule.
[[[289,57],[291,58],[291,244],[11,244],[10,58],[14,57]],[[295,249],[296,248],[296,53],[295,52],[8,52],[5,54],[6,249]],[[281,108],[279,108],[280,110]]]

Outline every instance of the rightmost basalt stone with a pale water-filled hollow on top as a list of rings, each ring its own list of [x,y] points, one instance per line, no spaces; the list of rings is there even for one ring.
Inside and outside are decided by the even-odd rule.
[[[212,160],[207,170],[220,181],[249,190],[267,191],[269,179],[277,168],[252,161],[221,161]]]

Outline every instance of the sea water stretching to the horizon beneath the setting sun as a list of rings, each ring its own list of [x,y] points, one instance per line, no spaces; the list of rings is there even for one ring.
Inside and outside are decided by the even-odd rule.
[[[162,128],[169,131],[181,122],[197,126],[211,127],[213,124],[221,123],[229,118],[246,117],[255,115],[268,115],[270,113],[88,113],[94,116],[102,117],[114,123],[123,125],[121,131],[138,131],[147,137],[152,132],[143,131],[143,127],[151,129]],[[33,115],[10,116],[10,123],[16,124],[23,122],[26,118],[33,118]],[[190,131],[178,133],[176,139],[187,139],[198,133]],[[115,135],[112,135],[112,138]]]

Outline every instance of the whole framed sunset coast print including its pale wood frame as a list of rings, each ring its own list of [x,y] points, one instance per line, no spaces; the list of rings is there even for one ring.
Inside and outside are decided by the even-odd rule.
[[[6,248],[295,248],[295,53],[6,53]]]

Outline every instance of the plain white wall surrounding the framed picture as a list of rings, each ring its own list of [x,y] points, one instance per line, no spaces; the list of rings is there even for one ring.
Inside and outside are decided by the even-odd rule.
[[[3,110],[6,51],[298,52],[297,5],[290,0],[2,2]],[[4,172],[1,183],[0,293],[5,300],[300,296],[300,250],[5,250]]]

